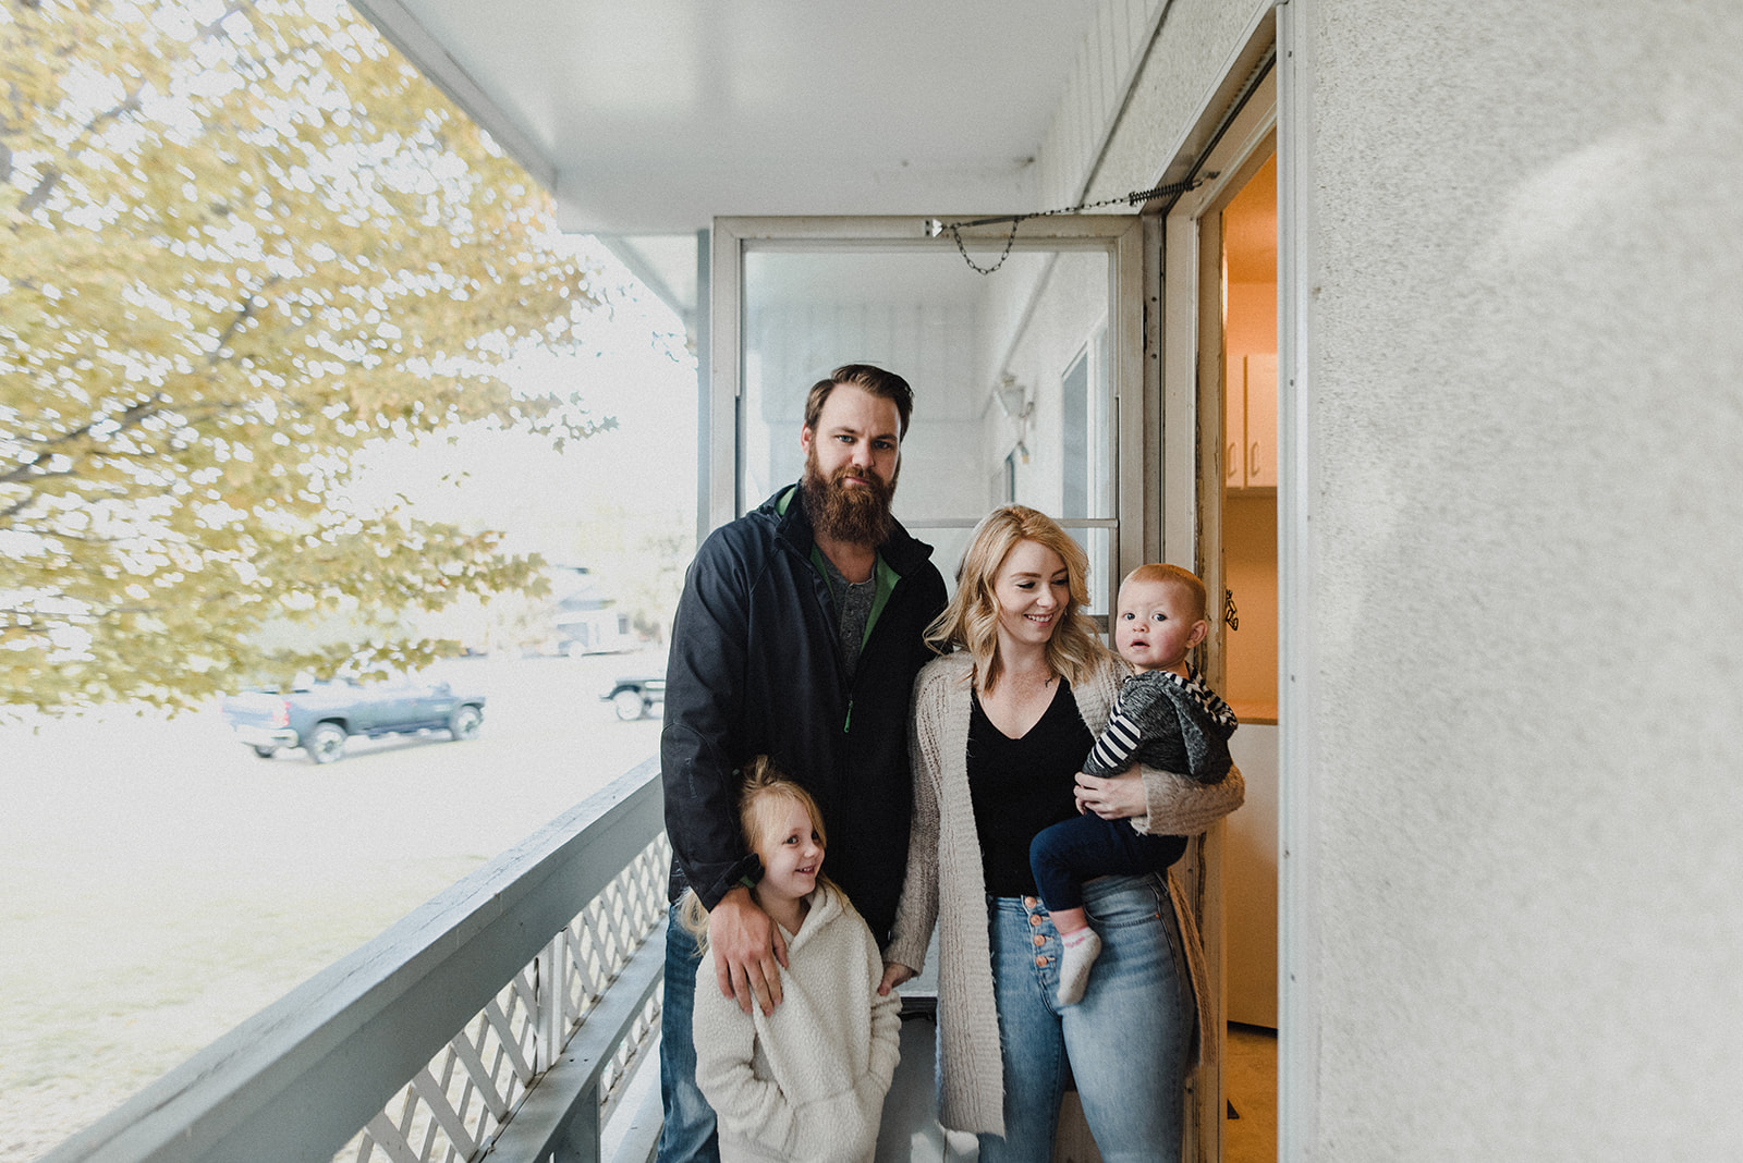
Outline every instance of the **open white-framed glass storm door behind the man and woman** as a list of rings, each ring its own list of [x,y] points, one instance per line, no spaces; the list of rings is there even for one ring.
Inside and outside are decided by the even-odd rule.
[[[709,524],[800,477],[814,381],[878,364],[915,395],[896,517],[946,583],[992,507],[1034,505],[1088,550],[1105,625],[1119,576],[1156,548],[1140,219],[1030,219],[1007,254],[1007,223],[959,233],[960,249],[922,218],[715,219]]]

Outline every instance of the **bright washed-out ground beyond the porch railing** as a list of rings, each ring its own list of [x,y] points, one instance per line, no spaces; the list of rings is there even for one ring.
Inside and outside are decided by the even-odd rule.
[[[467,743],[258,759],[216,710],[0,728],[0,1161],[31,1160],[659,747],[662,653],[460,660]]]

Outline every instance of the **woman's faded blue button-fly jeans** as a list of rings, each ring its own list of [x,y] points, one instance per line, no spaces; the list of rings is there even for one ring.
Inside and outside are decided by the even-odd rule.
[[[1084,884],[1102,937],[1081,1003],[1060,1008],[1060,935],[1034,897],[988,900],[1004,1052],[1004,1139],[981,1163],[1048,1163],[1067,1071],[1107,1163],[1175,1163],[1196,1006],[1168,888],[1157,876]]]

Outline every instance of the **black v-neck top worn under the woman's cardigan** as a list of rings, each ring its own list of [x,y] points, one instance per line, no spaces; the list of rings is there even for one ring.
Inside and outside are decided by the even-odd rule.
[[[1070,682],[1060,677],[1048,712],[1023,738],[1009,738],[981,710],[969,710],[969,796],[980,834],[987,891],[1034,897],[1028,843],[1035,832],[1077,815],[1072,787],[1095,736],[1077,714]]]

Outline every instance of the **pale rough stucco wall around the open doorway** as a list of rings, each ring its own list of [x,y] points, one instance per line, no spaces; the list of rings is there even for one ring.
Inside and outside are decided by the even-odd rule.
[[[1285,1147],[1743,1158],[1743,5],[1290,5]],[[1177,7],[1096,185],[1255,10]]]

